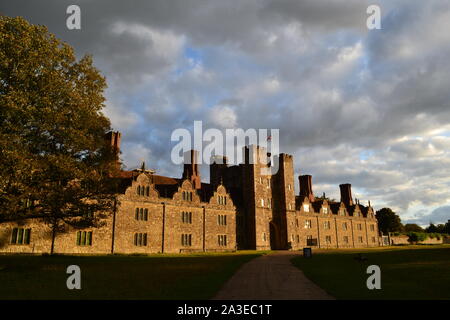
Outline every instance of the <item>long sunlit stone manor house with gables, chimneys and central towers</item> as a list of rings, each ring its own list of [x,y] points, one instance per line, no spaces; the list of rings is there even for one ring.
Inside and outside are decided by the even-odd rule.
[[[108,142],[119,150],[121,135]],[[294,191],[294,164],[280,154],[279,170],[270,167],[267,150],[244,148],[244,163],[225,157],[210,165],[210,183],[201,181],[197,151],[189,153],[181,179],[153,170],[121,171],[120,205],[98,228],[68,227],[58,233],[54,253],[181,253],[238,249],[355,248],[379,245],[374,210],[354,201],[350,184],[341,184],[340,202],[316,198],[311,176],[299,176]],[[251,157],[251,158],[250,158]],[[253,161],[249,161],[253,159]],[[0,224],[0,252],[48,253],[50,228],[33,219]]]

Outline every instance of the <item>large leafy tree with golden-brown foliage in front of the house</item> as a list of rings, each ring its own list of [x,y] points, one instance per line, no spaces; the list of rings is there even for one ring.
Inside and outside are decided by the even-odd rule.
[[[44,26],[1,16],[0,37],[0,221],[41,218],[53,240],[101,225],[117,170],[105,79]]]

